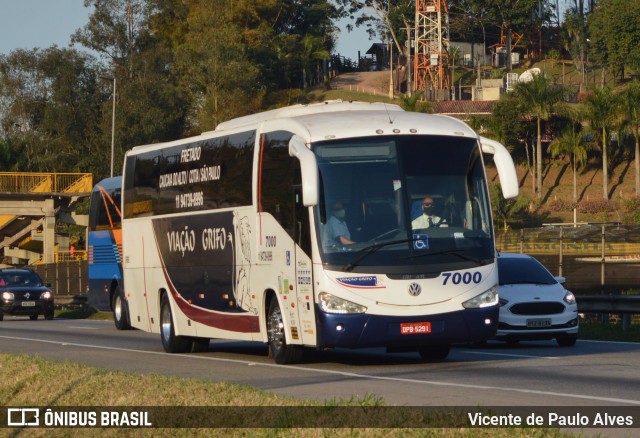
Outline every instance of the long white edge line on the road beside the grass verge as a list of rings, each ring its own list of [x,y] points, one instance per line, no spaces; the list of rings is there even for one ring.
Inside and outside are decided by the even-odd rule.
[[[151,355],[158,355],[158,356],[173,356],[173,357],[180,357],[180,358],[207,360],[207,361],[213,361],[213,362],[241,364],[246,366],[249,366],[249,364],[253,364],[253,366],[263,366],[263,367],[269,367],[269,368],[285,368],[288,370],[305,371],[305,372],[316,373],[316,374],[331,374],[331,375],[351,377],[356,379],[381,380],[381,381],[388,381],[388,382],[410,383],[410,384],[425,385],[425,386],[442,386],[442,387],[467,388],[467,389],[484,389],[484,390],[491,390],[491,391],[517,392],[517,393],[523,393],[523,394],[566,397],[566,398],[580,399],[580,400],[624,403],[624,404],[640,406],[640,400],[629,400],[629,399],[613,398],[613,397],[599,397],[599,396],[586,395],[586,394],[569,394],[565,392],[540,391],[536,389],[512,388],[508,386],[501,387],[501,386],[491,386],[491,385],[471,385],[467,383],[452,383],[452,382],[441,382],[441,381],[433,381],[433,380],[408,379],[403,377],[375,376],[370,374],[348,373],[345,371],[307,368],[307,367],[297,366],[297,365],[278,365],[275,363],[257,363],[257,362],[248,361],[248,360],[226,359],[226,358],[209,357],[209,356],[194,356],[191,354],[180,354],[179,356],[177,356],[171,353],[165,353],[163,351],[161,352],[161,351],[135,350],[132,348],[107,347],[102,345],[78,344],[74,342],[49,341],[44,339],[20,338],[15,336],[0,336],[0,339],[12,339],[16,341],[31,341],[31,342],[40,342],[45,344],[56,344],[56,345],[73,346],[73,347],[81,347],[81,348],[95,348],[100,350],[126,351],[131,353],[151,354]]]

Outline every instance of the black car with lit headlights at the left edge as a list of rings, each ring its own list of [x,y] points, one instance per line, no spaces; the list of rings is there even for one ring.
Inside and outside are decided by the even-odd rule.
[[[53,319],[53,291],[31,269],[0,269],[0,321],[4,315]]]

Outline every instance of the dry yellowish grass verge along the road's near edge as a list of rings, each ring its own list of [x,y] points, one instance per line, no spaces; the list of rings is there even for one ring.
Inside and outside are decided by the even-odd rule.
[[[380,407],[384,401],[368,394],[364,398],[351,400],[330,400],[325,403],[302,402],[291,397],[278,396],[252,387],[226,382],[209,382],[199,379],[183,379],[159,375],[137,375],[124,372],[113,372],[96,369],[73,363],[46,361],[25,355],[0,354],[0,368],[4,370],[20,370],[11,379],[2,379],[0,383],[0,399],[6,406],[118,406],[118,407],[161,407],[161,406],[192,406],[192,407],[247,407],[248,412],[255,407],[267,406],[271,415],[291,415],[291,411],[283,411],[276,407],[318,407],[321,414],[346,416],[354,411],[339,407],[353,407],[356,410],[367,407]],[[336,407],[338,407],[336,409]],[[333,410],[327,410],[333,409]],[[403,424],[402,407],[398,407],[400,416],[398,422]],[[200,411],[201,412],[201,411]],[[295,411],[294,411],[295,412]],[[305,411],[308,412],[308,411]],[[408,413],[407,415],[412,415]],[[188,419],[184,419],[188,424]],[[283,417],[283,424],[287,418]],[[343,423],[349,424],[348,418]],[[335,418],[332,417],[333,424]],[[195,423],[198,424],[198,423]],[[241,423],[242,424],[242,423]],[[19,429],[11,436],[20,435]],[[571,436],[558,429],[548,428],[39,428],[23,430],[28,436],[75,436],[81,432],[82,436],[300,436],[300,437],[564,437]]]

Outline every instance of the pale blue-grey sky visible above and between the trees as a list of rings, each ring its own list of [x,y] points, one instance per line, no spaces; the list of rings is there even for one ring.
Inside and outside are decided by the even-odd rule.
[[[87,24],[90,8],[83,0],[0,0],[0,53],[15,49],[68,47],[71,35]],[[338,37],[337,52],[356,60],[376,41],[362,29]],[[80,47],[79,47],[80,48]]]

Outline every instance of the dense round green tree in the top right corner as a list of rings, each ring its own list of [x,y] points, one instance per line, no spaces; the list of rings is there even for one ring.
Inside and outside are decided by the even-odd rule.
[[[599,0],[589,14],[589,56],[619,79],[625,67],[640,68],[640,2]]]

